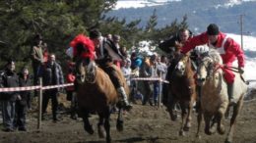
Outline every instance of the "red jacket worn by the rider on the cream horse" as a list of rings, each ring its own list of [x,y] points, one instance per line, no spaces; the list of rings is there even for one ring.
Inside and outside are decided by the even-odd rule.
[[[216,44],[216,48],[222,48],[222,44],[224,41],[224,37],[226,35],[223,32],[220,32],[218,35],[218,40]],[[185,45],[181,48],[181,52],[186,54],[188,51],[193,49],[198,45],[208,44],[209,39],[207,32],[203,32],[197,36],[192,37],[189,39]],[[233,39],[227,38],[224,43],[224,54],[221,54],[224,64],[232,63],[234,60],[238,60],[238,67],[244,67],[244,53],[240,48],[240,45],[236,43]]]

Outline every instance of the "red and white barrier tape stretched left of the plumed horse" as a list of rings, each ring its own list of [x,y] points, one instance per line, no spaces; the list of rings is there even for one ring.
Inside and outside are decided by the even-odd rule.
[[[73,86],[74,83],[67,83],[67,84],[60,84],[60,85],[50,85],[50,86],[27,86],[27,87],[9,87],[9,88],[0,88],[0,92],[13,92],[13,91],[28,91],[28,90],[35,90],[35,89],[52,89],[52,88],[59,88],[59,87],[67,87]]]

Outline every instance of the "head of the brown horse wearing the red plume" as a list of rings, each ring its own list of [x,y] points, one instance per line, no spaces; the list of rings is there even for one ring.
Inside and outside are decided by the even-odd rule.
[[[94,82],[96,78],[96,63],[90,58],[81,60],[78,68],[82,82]]]

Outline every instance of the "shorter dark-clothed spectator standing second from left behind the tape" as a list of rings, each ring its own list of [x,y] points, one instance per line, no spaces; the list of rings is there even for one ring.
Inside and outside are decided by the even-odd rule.
[[[31,79],[29,69],[24,67],[19,74],[19,82],[21,87],[31,86]],[[18,130],[27,131],[26,128],[26,115],[27,108],[31,107],[31,91],[21,91],[21,98],[16,101],[16,118],[15,125]]]

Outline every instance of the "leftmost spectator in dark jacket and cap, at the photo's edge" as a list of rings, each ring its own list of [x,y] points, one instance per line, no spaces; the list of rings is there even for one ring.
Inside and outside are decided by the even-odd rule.
[[[19,77],[15,72],[15,62],[13,60],[8,61],[6,70],[1,74],[1,87],[19,87]],[[14,131],[15,124],[15,102],[20,98],[19,92],[3,92],[1,93],[2,100],[2,116],[4,131]]]

